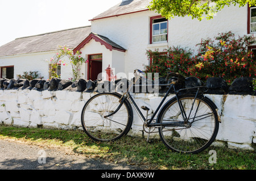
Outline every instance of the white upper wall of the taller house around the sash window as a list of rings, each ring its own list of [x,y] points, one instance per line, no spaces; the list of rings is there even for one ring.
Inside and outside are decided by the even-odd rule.
[[[176,17],[168,21],[168,43],[150,44],[150,17],[153,11],[142,11],[112,18],[93,20],[92,32],[108,37],[127,49],[125,73],[148,65],[146,49],[163,50],[171,46],[197,50],[201,39],[213,38],[218,33],[233,31],[236,35],[247,34],[247,7],[230,6],[218,12],[212,20],[192,20]],[[104,28],[102,28],[104,27]]]

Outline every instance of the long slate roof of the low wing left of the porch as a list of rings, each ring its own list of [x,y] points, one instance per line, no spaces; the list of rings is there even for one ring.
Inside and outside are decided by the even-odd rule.
[[[72,28],[35,36],[20,37],[0,47],[0,57],[15,54],[47,52],[59,46],[76,48],[91,32],[90,26]]]

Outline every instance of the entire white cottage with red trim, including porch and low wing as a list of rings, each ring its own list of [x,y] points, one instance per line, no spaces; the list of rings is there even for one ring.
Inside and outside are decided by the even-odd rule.
[[[48,78],[47,58],[59,45],[80,50],[87,61],[82,65],[85,79],[96,79],[110,65],[118,77],[150,64],[146,50],[171,46],[195,49],[201,39],[232,31],[236,35],[256,32],[256,7],[225,7],[212,20],[190,17],[167,20],[147,9],[151,0],[123,0],[90,19],[90,27],[73,28],[23,37],[0,47],[1,78],[16,78],[27,70],[38,70]],[[256,48],[256,47],[251,47]],[[123,74],[124,73],[124,74]],[[71,77],[71,67],[61,66],[61,78]]]

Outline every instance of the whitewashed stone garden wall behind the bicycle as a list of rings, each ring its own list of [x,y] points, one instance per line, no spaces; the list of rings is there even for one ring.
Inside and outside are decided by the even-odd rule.
[[[0,124],[29,128],[82,129],[82,107],[94,94],[96,93],[68,90],[0,90]],[[150,108],[151,115],[163,99],[163,96],[156,94],[138,93],[133,96],[138,107]],[[224,145],[228,143],[230,148],[253,149],[251,146],[256,144],[255,96],[206,96],[213,100],[222,113],[217,140]],[[172,95],[168,96],[170,98]],[[142,120],[134,110],[134,122],[129,134],[142,135],[142,125]]]

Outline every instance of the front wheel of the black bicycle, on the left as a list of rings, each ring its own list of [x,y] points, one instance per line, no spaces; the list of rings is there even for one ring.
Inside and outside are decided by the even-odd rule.
[[[94,95],[82,109],[81,123],[84,132],[94,141],[114,141],[127,134],[133,122],[130,103],[125,101],[121,108],[109,117],[120,105],[120,94],[101,93]]]

